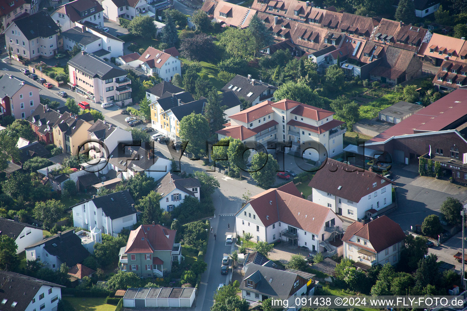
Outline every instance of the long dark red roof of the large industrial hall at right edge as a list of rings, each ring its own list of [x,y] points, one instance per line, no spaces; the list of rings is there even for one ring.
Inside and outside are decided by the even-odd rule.
[[[371,138],[367,143],[385,141],[392,136],[448,130],[449,124],[467,115],[466,98],[467,90],[453,90],[445,97]]]

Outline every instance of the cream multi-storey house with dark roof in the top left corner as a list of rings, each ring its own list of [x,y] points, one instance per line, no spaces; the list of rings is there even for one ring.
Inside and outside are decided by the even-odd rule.
[[[17,18],[5,30],[7,50],[25,61],[52,58],[57,53],[58,26],[45,12]]]

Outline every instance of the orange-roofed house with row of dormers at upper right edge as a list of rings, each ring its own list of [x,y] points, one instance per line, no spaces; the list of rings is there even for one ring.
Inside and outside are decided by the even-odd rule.
[[[467,44],[465,38],[454,38],[434,33],[426,45],[423,61],[436,67],[444,61],[467,63]]]

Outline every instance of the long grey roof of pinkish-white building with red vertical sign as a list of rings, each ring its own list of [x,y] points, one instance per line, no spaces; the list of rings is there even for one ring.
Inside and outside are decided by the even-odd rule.
[[[92,77],[99,77],[101,80],[126,76],[126,70],[119,68],[113,63],[106,62],[91,53],[78,53],[68,64],[78,68]]]

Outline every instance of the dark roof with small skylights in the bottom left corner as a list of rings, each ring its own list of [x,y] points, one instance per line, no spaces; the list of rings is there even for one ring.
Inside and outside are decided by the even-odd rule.
[[[50,283],[34,277],[2,270],[0,270],[0,280],[2,280],[0,282],[0,297],[2,300],[7,299],[7,302],[1,306],[2,311],[26,310],[32,298],[34,298],[41,289],[42,285],[64,287],[56,283]],[[17,304],[13,307],[12,304],[14,302]]]

